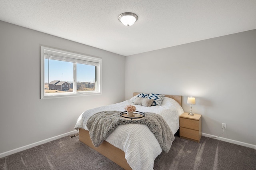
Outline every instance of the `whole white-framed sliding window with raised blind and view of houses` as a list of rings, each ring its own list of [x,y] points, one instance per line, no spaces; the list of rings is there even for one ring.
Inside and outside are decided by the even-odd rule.
[[[41,99],[101,94],[101,62],[41,46]]]

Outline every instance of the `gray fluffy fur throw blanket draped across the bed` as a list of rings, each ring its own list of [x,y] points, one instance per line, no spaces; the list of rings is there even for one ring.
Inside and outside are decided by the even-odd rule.
[[[127,120],[120,117],[120,113],[120,111],[102,111],[92,115],[88,119],[86,126],[95,147],[100,146],[118,125],[142,124],[147,125],[150,131],[156,136],[162,150],[166,153],[169,152],[174,135],[162,116],[156,113],[146,112],[143,119]]]

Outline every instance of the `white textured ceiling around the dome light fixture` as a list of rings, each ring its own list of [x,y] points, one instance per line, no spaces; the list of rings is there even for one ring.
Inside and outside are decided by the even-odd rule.
[[[0,20],[127,56],[256,29],[256,0],[0,0]]]

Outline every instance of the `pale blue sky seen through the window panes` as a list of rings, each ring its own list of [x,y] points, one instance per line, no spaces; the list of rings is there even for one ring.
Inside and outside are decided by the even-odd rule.
[[[49,80],[48,80],[48,59],[44,59],[44,83],[54,80],[73,82],[73,63],[49,59]],[[77,82],[94,82],[95,66],[76,64]]]

